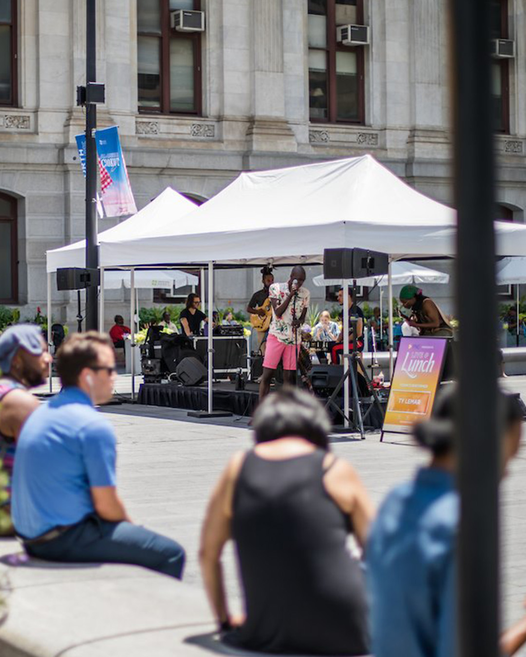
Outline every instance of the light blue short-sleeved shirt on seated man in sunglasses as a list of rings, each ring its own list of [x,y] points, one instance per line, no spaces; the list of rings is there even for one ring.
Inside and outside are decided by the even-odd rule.
[[[115,486],[115,436],[79,388],[65,388],[26,421],[16,445],[11,513],[39,536],[94,512],[90,488]]]

